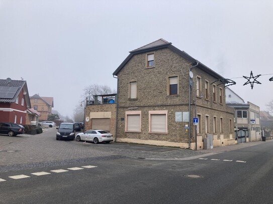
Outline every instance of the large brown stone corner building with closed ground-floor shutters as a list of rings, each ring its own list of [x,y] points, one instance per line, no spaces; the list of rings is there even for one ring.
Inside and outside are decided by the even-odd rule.
[[[212,135],[214,146],[235,143],[233,109],[217,82],[224,77],[171,43],[159,39],[131,51],[113,75],[116,141],[203,149]]]

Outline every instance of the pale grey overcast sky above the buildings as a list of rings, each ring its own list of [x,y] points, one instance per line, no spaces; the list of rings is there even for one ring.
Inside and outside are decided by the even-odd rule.
[[[84,87],[116,89],[112,73],[129,51],[163,38],[265,110],[272,22],[272,0],[0,0],[0,78],[23,77],[30,96],[54,97],[53,109],[72,117]],[[263,75],[252,90],[250,71]]]

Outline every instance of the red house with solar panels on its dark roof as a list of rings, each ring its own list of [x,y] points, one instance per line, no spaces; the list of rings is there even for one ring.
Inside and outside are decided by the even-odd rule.
[[[27,82],[0,79],[0,121],[25,125],[28,108],[31,104]]]

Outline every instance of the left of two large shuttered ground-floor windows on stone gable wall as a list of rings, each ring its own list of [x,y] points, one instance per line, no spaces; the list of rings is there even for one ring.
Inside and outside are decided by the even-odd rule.
[[[125,131],[141,132],[141,111],[125,112]]]

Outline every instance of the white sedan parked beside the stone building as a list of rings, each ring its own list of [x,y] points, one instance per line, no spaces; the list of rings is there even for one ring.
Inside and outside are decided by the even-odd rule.
[[[95,144],[99,142],[109,143],[113,141],[113,135],[105,130],[87,130],[85,132],[78,133],[76,135],[76,140],[79,142],[83,141],[91,141]]]

